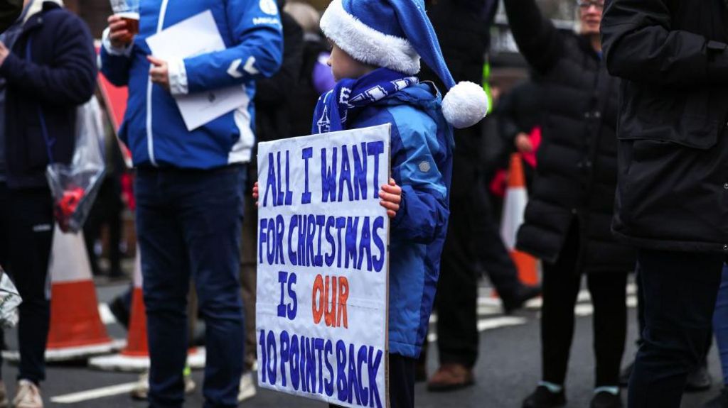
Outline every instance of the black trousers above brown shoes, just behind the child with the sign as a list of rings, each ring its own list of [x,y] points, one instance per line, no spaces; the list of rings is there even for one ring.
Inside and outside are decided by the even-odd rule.
[[[501,298],[521,287],[500,237],[483,183],[467,160],[454,160],[448,234],[435,296],[440,364],[473,367],[478,359],[478,279],[483,270]]]

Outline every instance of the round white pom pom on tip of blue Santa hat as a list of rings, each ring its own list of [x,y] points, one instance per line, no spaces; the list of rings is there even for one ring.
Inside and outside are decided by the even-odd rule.
[[[477,83],[459,82],[443,98],[443,115],[452,126],[462,129],[475,125],[488,113],[486,91]]]

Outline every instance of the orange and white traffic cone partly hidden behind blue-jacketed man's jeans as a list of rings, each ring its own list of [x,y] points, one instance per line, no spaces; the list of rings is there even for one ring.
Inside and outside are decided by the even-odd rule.
[[[146,335],[146,309],[142,293],[141,258],[139,248],[134,266],[134,291],[127,332],[127,346],[112,356],[98,356],[89,360],[90,367],[104,371],[144,372],[149,370],[149,343]],[[205,349],[191,349],[187,364],[193,369],[205,367]]]

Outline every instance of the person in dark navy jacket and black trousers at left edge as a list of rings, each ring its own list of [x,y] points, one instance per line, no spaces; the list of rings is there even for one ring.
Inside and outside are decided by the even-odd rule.
[[[23,297],[13,401],[19,408],[43,407],[38,385],[45,379],[54,222],[45,169],[71,161],[76,107],[95,84],[93,41],[82,20],[58,0],[25,0],[23,14],[0,35],[0,264]]]

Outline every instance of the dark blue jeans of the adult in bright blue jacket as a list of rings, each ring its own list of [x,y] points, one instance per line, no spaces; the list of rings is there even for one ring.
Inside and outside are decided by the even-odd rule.
[[[239,280],[244,181],[242,166],[138,171],[150,407],[184,401],[190,277],[205,319],[205,407],[237,407],[245,343]]]

